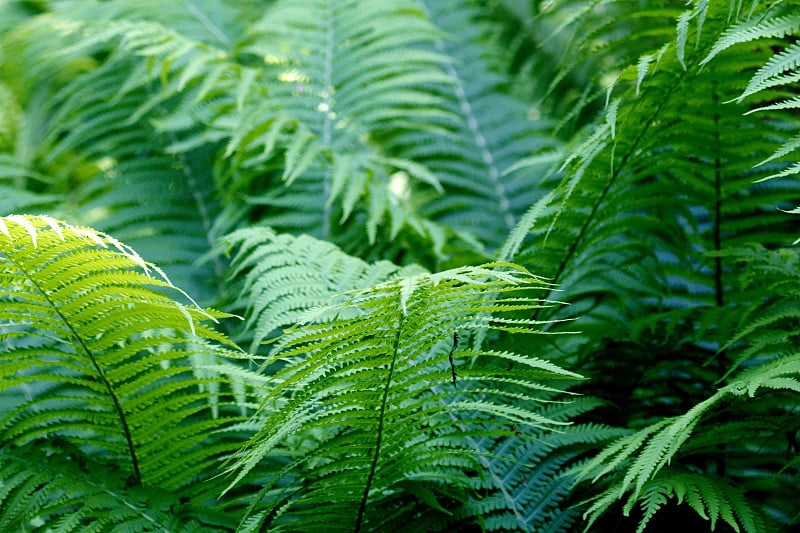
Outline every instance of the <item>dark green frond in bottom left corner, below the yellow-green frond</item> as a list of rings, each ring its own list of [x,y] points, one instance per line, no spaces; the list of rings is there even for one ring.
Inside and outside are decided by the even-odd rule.
[[[125,483],[114,467],[94,463],[63,441],[0,451],[3,531],[233,531],[235,521],[181,496]],[[31,468],[36,465],[36,468]]]

